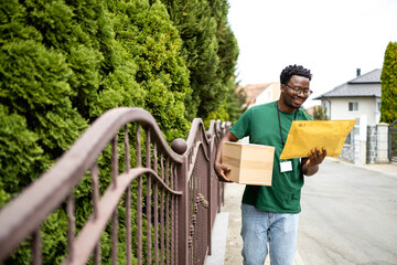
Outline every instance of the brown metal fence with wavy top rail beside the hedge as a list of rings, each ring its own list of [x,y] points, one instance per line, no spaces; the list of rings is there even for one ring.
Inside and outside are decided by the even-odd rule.
[[[104,231],[111,235],[111,264],[120,259],[120,244],[127,264],[204,264],[224,191],[212,165],[227,127],[212,121],[205,131],[202,120],[194,119],[187,140],[175,139],[170,147],[148,112],[107,112],[1,209],[0,263],[26,242],[32,264],[45,263],[42,226],[61,209],[67,214],[63,264],[100,264]],[[104,178],[99,157],[109,148],[111,170]],[[81,205],[75,191],[85,178],[92,183],[90,215],[76,227]]]

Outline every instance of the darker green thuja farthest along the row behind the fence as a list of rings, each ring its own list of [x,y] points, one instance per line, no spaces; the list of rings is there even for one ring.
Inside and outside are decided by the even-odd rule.
[[[164,0],[182,39],[182,54],[190,70],[191,96],[186,113],[206,118],[218,109],[232,87],[238,55],[237,42],[227,24],[227,1]]]

